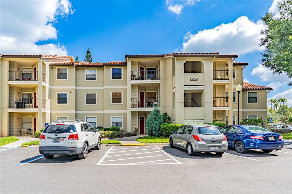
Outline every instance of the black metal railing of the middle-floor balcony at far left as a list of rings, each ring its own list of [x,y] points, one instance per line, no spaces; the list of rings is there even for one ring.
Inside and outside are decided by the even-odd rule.
[[[8,99],[8,108],[38,108],[37,98]]]

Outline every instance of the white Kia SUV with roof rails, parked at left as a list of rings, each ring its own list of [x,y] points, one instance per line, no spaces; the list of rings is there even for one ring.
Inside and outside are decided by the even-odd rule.
[[[89,149],[100,149],[98,130],[84,120],[55,120],[46,126],[39,140],[39,153],[45,158],[53,158],[55,154],[78,154],[79,158],[86,158]]]

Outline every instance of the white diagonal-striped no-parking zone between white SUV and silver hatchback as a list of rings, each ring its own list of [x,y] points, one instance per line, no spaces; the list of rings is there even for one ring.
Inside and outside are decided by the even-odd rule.
[[[133,146],[115,148],[112,146],[96,165],[165,165],[181,164],[180,161],[166,153],[163,149],[153,146]]]

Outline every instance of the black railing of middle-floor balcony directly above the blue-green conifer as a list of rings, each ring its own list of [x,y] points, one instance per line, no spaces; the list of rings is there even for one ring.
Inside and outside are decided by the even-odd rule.
[[[132,108],[150,108],[150,107],[160,107],[160,98],[131,98]]]

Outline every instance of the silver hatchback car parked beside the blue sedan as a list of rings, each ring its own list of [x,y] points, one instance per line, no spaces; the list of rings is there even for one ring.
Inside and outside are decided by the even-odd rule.
[[[228,149],[226,136],[214,125],[190,124],[180,126],[169,136],[170,147],[180,147],[192,156],[198,152],[224,154]]]

